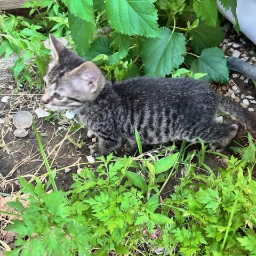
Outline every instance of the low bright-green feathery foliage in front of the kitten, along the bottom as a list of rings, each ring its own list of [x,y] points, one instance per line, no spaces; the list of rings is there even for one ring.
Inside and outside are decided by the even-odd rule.
[[[74,174],[68,192],[47,191],[39,179],[35,186],[20,177],[28,203],[9,203],[20,218],[6,228],[18,233],[17,247],[6,255],[152,254],[158,247],[163,255],[255,255],[251,135],[249,146],[238,150],[241,159],[227,158],[227,168],[218,174],[209,166],[198,173],[191,163],[196,154],[184,158],[185,143],[181,148],[98,157],[96,172],[84,167]],[[187,166],[187,172],[161,202],[163,175],[177,165]]]

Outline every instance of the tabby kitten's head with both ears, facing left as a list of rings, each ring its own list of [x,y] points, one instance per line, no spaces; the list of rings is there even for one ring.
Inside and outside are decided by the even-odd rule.
[[[78,109],[97,98],[105,86],[101,70],[90,61],[84,62],[50,35],[52,59],[44,77],[42,101],[53,110]]]

